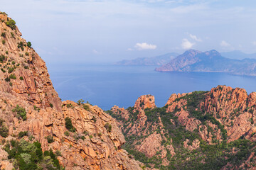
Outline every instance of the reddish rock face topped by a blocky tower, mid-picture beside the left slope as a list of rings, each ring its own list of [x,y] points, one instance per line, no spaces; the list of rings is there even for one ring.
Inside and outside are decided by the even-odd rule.
[[[146,115],[148,111],[154,111],[154,108],[156,108],[154,96],[144,95],[137,99],[132,110],[117,111],[117,106],[114,106],[111,109],[111,115],[117,118],[119,127],[126,135],[130,147],[136,148],[137,151],[144,153],[149,158],[160,154],[163,159],[161,164],[168,165],[167,153],[174,155],[174,147],[171,142],[166,146],[162,145],[162,141],[167,139],[162,136],[164,129],[161,118],[156,116],[157,121],[151,122],[149,120],[151,117]],[[122,116],[124,113],[125,118]],[[160,132],[156,132],[158,129]],[[132,137],[137,137],[137,139],[129,140]]]

